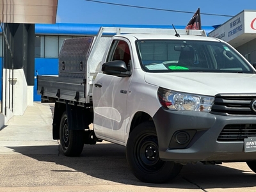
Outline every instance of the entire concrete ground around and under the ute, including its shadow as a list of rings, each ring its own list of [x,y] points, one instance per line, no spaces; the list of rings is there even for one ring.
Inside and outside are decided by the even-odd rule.
[[[170,183],[145,184],[120,145],[84,145],[80,157],[65,157],[52,140],[52,106],[35,102],[1,129],[0,191],[256,191],[246,163],[188,164]]]

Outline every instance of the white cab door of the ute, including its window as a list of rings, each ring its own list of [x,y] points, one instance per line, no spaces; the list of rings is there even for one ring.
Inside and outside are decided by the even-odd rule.
[[[113,40],[106,62],[123,60],[130,70],[132,65],[128,42]],[[125,142],[125,111],[130,77],[99,73],[93,85],[93,127],[96,136],[116,143]]]

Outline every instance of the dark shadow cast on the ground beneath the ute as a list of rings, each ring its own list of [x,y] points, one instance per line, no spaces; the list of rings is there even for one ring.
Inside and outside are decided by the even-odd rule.
[[[254,187],[256,174],[250,169],[230,168],[221,165],[204,165],[202,163],[183,166],[180,174],[167,184],[147,184],[140,182],[132,175],[125,159],[125,147],[112,143],[84,145],[79,157],[66,157],[63,154],[31,154],[31,151],[46,151],[53,146],[8,147],[17,153],[31,157],[37,161],[60,164],[72,168],[78,173],[85,173],[97,179],[104,179],[120,184],[150,186],[155,188],[188,189],[228,189]],[[58,147],[58,146],[55,146]],[[67,172],[67,170],[50,170],[51,172]],[[184,183],[187,185],[184,186]]]

